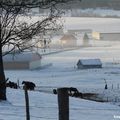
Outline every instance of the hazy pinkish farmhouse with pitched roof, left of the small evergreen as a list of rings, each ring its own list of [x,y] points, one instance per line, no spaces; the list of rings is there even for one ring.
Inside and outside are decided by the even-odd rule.
[[[63,47],[76,47],[77,38],[72,34],[65,34],[61,39],[61,45]]]

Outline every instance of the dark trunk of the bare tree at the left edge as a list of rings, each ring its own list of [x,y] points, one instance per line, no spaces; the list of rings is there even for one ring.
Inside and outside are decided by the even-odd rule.
[[[6,81],[2,59],[2,45],[0,43],[0,100],[6,100]]]

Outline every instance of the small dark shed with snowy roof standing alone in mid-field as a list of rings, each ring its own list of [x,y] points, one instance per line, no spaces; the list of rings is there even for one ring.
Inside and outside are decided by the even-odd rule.
[[[78,69],[102,68],[100,59],[80,59],[77,62]]]

